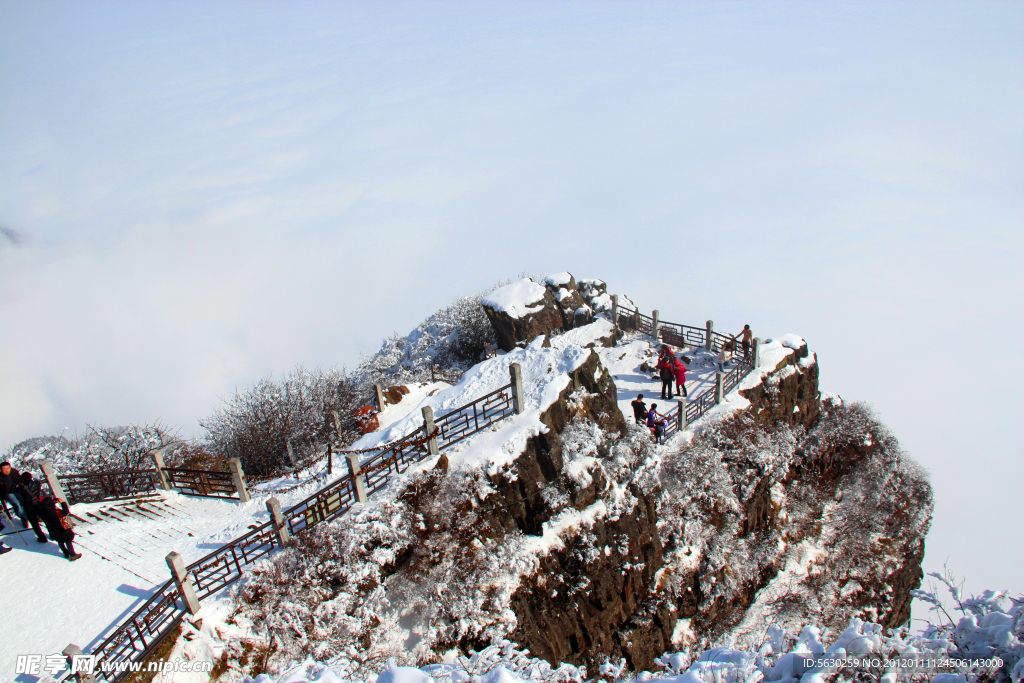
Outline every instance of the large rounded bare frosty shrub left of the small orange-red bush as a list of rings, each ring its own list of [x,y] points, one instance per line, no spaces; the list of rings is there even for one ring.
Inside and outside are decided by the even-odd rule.
[[[249,474],[272,475],[289,468],[293,458],[301,466],[328,443],[355,440],[359,432],[352,413],[360,404],[344,372],[298,366],[281,380],[268,377],[237,390],[200,424],[215,452],[239,458]]]

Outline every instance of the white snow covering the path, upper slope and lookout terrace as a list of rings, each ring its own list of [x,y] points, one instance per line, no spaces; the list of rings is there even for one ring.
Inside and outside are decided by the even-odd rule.
[[[591,353],[588,346],[609,331],[610,325],[598,319],[553,337],[548,347],[539,338],[524,349],[484,360],[468,371],[456,386],[440,382],[412,385],[400,403],[389,405],[380,416],[381,428],[364,436],[353,447],[373,447],[412,432],[422,425],[424,405],[442,416],[508,384],[509,366],[518,362],[525,394],[523,414],[497,423],[445,452],[450,467],[485,466],[496,471],[521,453],[527,437],[546,430],[540,421],[541,414],[567,386],[567,373],[586,361]],[[778,355],[780,359],[793,352],[792,343],[776,345],[778,348],[771,350],[772,358]],[[643,362],[653,365],[656,360],[652,339],[634,335],[618,346],[595,350],[614,378],[620,408],[627,419],[632,420],[630,401],[638,393],[644,394],[648,404],[659,402],[660,382],[652,379],[655,373],[640,370]],[[719,366],[717,356],[702,350],[685,352],[692,357],[687,372],[687,390],[692,398],[714,387]],[[761,374],[755,373],[744,385],[756,384]],[[741,409],[745,403],[733,393],[708,417]],[[659,410],[668,412],[673,404],[665,401]],[[688,438],[698,426],[699,423],[691,425],[691,430],[677,438]],[[265,503],[271,496],[285,507],[293,505],[329,478],[339,476],[342,465],[336,462],[330,477],[326,463],[321,461],[300,472],[297,478],[280,478],[253,486],[253,501],[244,505],[163,493],[132,514],[125,512],[123,505],[120,507],[124,509],[118,512],[119,506],[112,503],[75,506],[74,514],[83,520],[77,528],[76,541],[84,557],[74,563],[65,560],[55,545],[37,544],[31,533],[25,535],[27,545],[16,537],[8,537],[8,545],[13,545],[14,552],[0,558],[4,572],[0,613],[16,616],[0,620],[0,678],[14,676],[18,654],[52,654],[69,643],[89,651],[113,625],[169,578],[164,560],[167,553],[172,550],[181,553],[186,563],[199,559],[265,521]],[[429,460],[421,463],[421,467],[432,465]],[[565,523],[565,520],[551,523]],[[553,532],[557,530],[552,527]],[[233,591],[233,587],[228,588],[220,596],[205,601],[204,613],[226,616]],[[220,618],[215,621],[222,624]],[[207,649],[206,655],[216,656],[216,648]],[[31,683],[32,677],[23,676],[19,680]]]

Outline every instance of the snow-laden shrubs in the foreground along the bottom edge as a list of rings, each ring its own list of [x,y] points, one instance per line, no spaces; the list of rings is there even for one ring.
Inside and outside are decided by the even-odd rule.
[[[437,683],[564,683],[601,680],[607,683],[1021,683],[1024,680],[1024,596],[985,591],[962,600],[947,578],[936,574],[953,593],[959,617],[945,614],[939,625],[910,634],[906,629],[887,630],[878,624],[852,618],[830,637],[827,629],[812,625],[786,631],[767,627],[757,643],[737,648],[724,643],[697,652],[667,652],[655,660],[660,672],[631,672],[625,659],[607,661],[596,675],[581,667],[555,669],[529,656],[515,643],[498,640],[468,655],[450,657],[446,664],[423,667],[422,673]],[[934,594],[919,597],[939,603]],[[393,663],[384,670],[387,680],[398,680]],[[288,669],[278,682],[356,683],[367,678],[341,656],[333,661],[306,660]],[[386,674],[391,672],[391,676]],[[404,672],[402,680],[413,680]],[[358,676],[358,678],[356,678]],[[341,679],[339,681],[339,678]],[[381,679],[378,679],[380,681]],[[247,678],[245,683],[252,683]],[[274,683],[266,677],[265,683]]]

